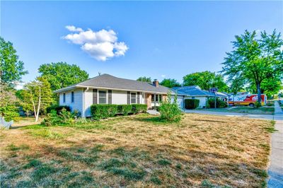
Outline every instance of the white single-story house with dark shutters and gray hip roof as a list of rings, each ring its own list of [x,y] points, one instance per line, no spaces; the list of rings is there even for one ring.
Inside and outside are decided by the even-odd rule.
[[[78,110],[82,117],[91,117],[93,104],[146,104],[148,108],[158,106],[166,98],[169,88],[153,83],[117,78],[102,74],[72,86],[55,90],[59,94],[59,105]]]

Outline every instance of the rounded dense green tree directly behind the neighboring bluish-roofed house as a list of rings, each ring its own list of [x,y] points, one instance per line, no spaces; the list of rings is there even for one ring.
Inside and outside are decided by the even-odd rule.
[[[224,77],[210,71],[187,74],[183,77],[183,86],[200,86],[203,90],[218,88],[220,91],[226,91],[228,89]]]

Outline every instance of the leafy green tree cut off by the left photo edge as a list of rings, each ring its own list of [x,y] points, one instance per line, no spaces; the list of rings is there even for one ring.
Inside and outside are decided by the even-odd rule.
[[[23,68],[23,61],[18,61],[13,44],[0,37],[0,82],[13,87],[27,73]]]

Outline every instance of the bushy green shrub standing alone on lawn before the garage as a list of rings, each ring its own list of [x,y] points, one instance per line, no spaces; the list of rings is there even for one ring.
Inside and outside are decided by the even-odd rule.
[[[171,94],[168,93],[167,99],[162,101],[159,106],[159,112],[161,114],[161,119],[166,120],[167,122],[180,122],[183,113],[177,103],[177,95],[175,95],[173,102],[171,102]]]

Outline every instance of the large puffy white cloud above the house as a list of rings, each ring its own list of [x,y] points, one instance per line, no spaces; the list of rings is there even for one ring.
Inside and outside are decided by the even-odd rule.
[[[83,30],[74,25],[67,25],[66,28],[76,33],[70,33],[63,38],[76,45],[81,45],[84,52],[98,61],[124,56],[129,49],[125,42],[117,42],[118,38],[114,30]]]

